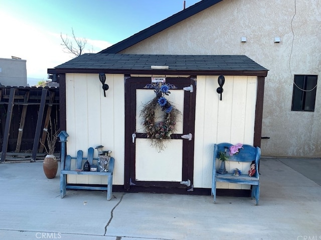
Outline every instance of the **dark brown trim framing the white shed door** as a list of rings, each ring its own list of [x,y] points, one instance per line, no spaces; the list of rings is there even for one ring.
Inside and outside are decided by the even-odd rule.
[[[175,84],[180,89],[187,86],[186,82],[180,83],[182,78],[172,78],[175,79]],[[186,80],[187,78],[184,78]],[[182,79],[183,80],[183,79]],[[171,78],[167,77],[167,81],[171,82]],[[124,188],[129,189],[131,186],[135,185],[135,145],[132,144],[132,133],[135,132],[136,127],[136,89],[143,89],[146,83],[150,82],[150,77],[125,77],[125,169],[124,169]],[[173,81],[172,81],[173,82]],[[171,82],[171,83],[172,83]],[[182,179],[190,179],[193,182],[194,174],[194,132],[195,132],[195,102],[196,102],[196,84],[195,78],[189,77],[189,82],[193,85],[193,92],[186,91],[184,94],[184,112],[189,112],[189,117],[184,117],[183,133],[193,135],[192,141],[183,142],[183,172]],[[137,86],[138,85],[138,86]],[[142,137],[141,134],[136,134]],[[173,135],[174,138],[181,139],[183,134]],[[132,158],[132,159],[131,159]],[[136,182],[138,183],[138,182]],[[185,185],[173,182],[141,182],[139,181],[139,186],[164,186],[164,187],[177,187],[184,188]]]

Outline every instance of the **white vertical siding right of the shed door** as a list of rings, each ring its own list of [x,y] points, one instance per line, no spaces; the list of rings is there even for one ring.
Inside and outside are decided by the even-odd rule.
[[[256,76],[225,76],[222,101],[216,92],[218,76],[198,76],[195,119],[194,186],[210,188],[212,184],[215,143],[253,145],[256,106]],[[219,162],[219,161],[218,161]],[[227,163],[246,172],[246,164]],[[218,188],[239,188],[239,184],[220,183]],[[247,186],[245,186],[247,187]]]

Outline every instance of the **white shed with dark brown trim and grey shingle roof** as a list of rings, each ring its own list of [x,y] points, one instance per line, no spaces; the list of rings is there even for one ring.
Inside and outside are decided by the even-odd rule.
[[[69,135],[67,154],[75,156],[78,150],[86,154],[89,147],[99,145],[112,151],[114,191],[210,193],[215,143],[260,146],[268,70],[247,56],[83,54],[48,72],[60,83],[60,128]],[[105,76],[105,82],[99,76]],[[225,79],[221,94],[219,76]],[[151,146],[141,116],[159,82],[169,86],[170,93],[164,96],[182,113],[162,150]],[[155,111],[161,119],[155,116],[154,124],[166,121],[165,112]],[[238,168],[248,171],[249,166]],[[67,181],[105,182],[100,176],[77,175]],[[244,186],[218,186],[239,187]]]

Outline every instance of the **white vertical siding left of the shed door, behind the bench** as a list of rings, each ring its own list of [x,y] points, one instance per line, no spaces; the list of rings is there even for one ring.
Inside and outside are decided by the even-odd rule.
[[[124,183],[124,75],[106,74],[103,95],[98,74],[66,74],[67,154],[103,145],[115,158],[113,184]],[[98,157],[95,150],[94,158]],[[68,176],[69,183],[105,184],[106,177]]]

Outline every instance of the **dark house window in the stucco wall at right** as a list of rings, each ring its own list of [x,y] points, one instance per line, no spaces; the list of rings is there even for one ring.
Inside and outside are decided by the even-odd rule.
[[[292,111],[314,111],[317,75],[294,75]]]

